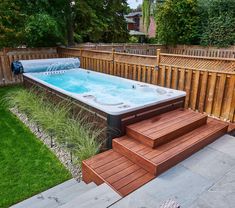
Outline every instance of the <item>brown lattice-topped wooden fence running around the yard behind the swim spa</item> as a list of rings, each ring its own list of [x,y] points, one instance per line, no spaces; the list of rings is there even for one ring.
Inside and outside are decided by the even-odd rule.
[[[208,61],[205,63],[202,61],[205,58],[196,59],[201,63],[200,65],[190,65],[187,63],[191,63],[194,57],[161,54],[159,50],[155,56],[146,56],[114,50],[5,49],[0,52],[0,85],[22,81],[21,76],[14,76],[11,73],[10,64],[13,60],[56,57],[79,57],[82,68],[184,90],[187,92],[186,108],[206,112],[223,120],[235,121],[235,72],[232,59],[218,59],[224,65],[209,59],[211,67],[213,65],[218,67],[218,70],[214,70],[207,69]],[[180,58],[184,61],[182,62]],[[221,70],[219,66],[231,68]]]

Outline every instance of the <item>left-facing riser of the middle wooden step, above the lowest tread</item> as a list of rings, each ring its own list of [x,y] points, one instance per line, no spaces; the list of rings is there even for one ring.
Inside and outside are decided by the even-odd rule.
[[[121,155],[126,156],[129,160],[138,164],[149,173],[156,175],[157,174],[157,167],[151,161],[146,160],[145,158],[141,157],[140,155],[132,152],[127,147],[121,145],[115,139],[113,140],[113,150],[120,153]]]

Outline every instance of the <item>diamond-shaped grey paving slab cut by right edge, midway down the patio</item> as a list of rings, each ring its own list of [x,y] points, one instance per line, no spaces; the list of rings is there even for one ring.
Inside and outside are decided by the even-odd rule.
[[[228,154],[206,147],[180,164],[215,182],[235,167],[235,159]]]

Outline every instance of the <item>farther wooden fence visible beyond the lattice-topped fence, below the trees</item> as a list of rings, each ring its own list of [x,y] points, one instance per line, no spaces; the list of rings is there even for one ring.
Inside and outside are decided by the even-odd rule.
[[[163,53],[169,54],[235,59],[235,46],[231,46],[229,48],[216,48],[198,45],[165,46],[158,44],[82,44],[78,47],[101,51],[111,51],[114,48],[117,52],[142,55],[155,55],[157,49],[161,49]]]

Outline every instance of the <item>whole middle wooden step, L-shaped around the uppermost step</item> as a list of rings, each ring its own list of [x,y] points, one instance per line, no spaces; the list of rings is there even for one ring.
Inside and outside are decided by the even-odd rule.
[[[154,149],[124,136],[113,140],[113,149],[154,175],[186,159],[226,133],[228,124],[208,119],[207,124]]]

